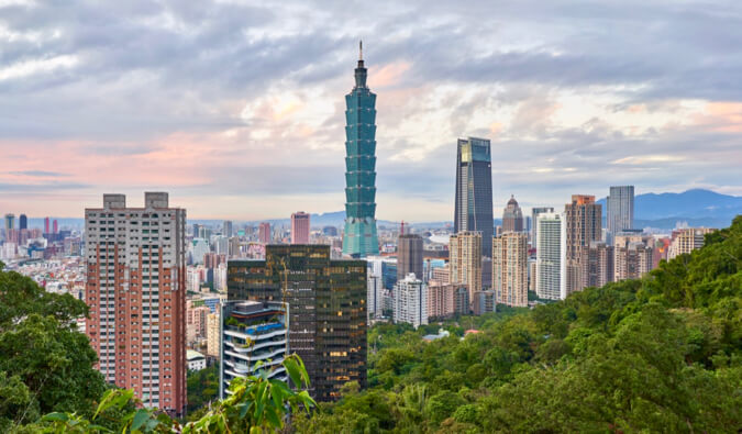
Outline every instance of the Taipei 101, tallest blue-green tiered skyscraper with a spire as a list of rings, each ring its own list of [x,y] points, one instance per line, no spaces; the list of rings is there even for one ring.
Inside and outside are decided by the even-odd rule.
[[[366,86],[363,43],[355,87],[345,96],[345,232],[343,255],[378,255],[376,235],[376,93]]]

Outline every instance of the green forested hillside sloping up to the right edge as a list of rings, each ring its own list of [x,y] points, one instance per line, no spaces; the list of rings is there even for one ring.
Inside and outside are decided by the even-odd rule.
[[[742,216],[642,280],[436,330],[369,332],[369,389],[301,433],[738,432]],[[474,323],[474,322],[478,322]],[[463,327],[479,334],[461,340]],[[374,353],[374,347],[378,350]]]

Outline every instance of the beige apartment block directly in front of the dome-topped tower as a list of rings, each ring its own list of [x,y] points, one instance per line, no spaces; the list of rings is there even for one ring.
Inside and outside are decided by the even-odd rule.
[[[528,234],[506,232],[492,241],[492,290],[497,302],[528,307]]]

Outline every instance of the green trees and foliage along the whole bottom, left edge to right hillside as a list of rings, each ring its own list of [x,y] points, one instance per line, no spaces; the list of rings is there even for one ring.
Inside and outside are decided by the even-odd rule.
[[[369,332],[369,387],[313,401],[265,375],[180,425],[109,390],[71,319],[84,303],[0,270],[2,432],[737,432],[742,429],[742,216],[642,280],[534,310]],[[466,329],[480,333],[463,337]],[[301,360],[285,366],[306,385]],[[211,387],[209,372],[192,380]],[[198,378],[198,377],[192,377]],[[99,398],[100,397],[100,398]],[[292,424],[285,414],[292,409]],[[42,416],[42,414],[46,414]]]

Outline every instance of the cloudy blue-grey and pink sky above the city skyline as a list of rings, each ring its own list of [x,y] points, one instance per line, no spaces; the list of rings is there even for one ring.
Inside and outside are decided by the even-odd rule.
[[[491,140],[496,216],[742,194],[739,1],[0,0],[0,213],[340,211],[359,40],[379,219],[452,220],[465,136]]]

